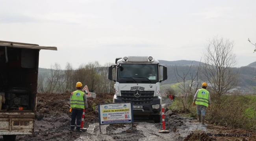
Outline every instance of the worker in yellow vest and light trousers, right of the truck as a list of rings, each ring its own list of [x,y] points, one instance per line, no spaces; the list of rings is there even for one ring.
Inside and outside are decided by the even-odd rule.
[[[211,108],[210,102],[210,94],[208,90],[206,90],[207,83],[202,83],[202,89],[198,89],[195,96],[194,96],[194,102],[193,105],[197,105],[197,116],[199,123],[202,122],[202,125],[204,125],[204,119],[205,119],[205,112],[206,108]],[[201,118],[202,117],[202,118]],[[202,121],[201,121],[202,119]]]

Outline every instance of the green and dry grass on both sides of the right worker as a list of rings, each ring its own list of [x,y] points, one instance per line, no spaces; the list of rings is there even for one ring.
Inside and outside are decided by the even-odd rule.
[[[234,128],[243,128],[256,131],[256,97],[255,96],[221,96],[221,103],[215,103],[218,96],[211,95],[211,109],[206,109],[206,120],[213,125],[228,125]],[[188,98],[191,99],[191,98]],[[195,106],[184,111],[182,98],[176,98],[169,107],[174,112],[185,117],[197,117]],[[188,100],[188,104],[193,101]],[[190,103],[191,102],[191,103]]]

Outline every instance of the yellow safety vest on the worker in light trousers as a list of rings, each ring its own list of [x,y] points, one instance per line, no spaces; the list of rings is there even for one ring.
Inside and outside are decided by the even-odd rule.
[[[209,104],[209,92],[206,89],[199,89],[197,93],[197,100],[195,102],[197,105],[204,105],[208,107]]]

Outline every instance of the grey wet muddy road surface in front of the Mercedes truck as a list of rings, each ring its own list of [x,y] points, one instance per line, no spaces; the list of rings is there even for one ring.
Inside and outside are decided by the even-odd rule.
[[[173,113],[169,111],[166,116],[169,114]],[[133,128],[132,124],[102,125],[100,134],[99,125],[95,123],[76,141],[181,141],[191,132],[206,131],[205,126],[199,125],[192,118],[173,114],[170,119],[172,122],[167,125],[170,133],[158,133],[162,130],[162,124],[154,123],[154,120],[149,120],[148,117],[134,117]],[[210,137],[209,139],[211,140]]]

